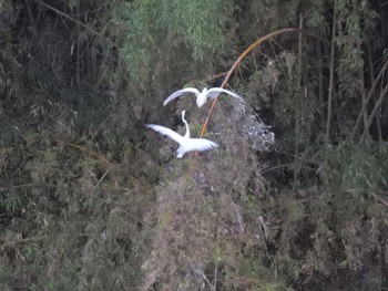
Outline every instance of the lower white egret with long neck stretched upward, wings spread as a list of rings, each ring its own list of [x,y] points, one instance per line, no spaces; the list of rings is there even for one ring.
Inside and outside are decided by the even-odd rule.
[[[175,141],[176,143],[180,144],[180,147],[176,149],[177,157],[182,158],[183,155],[187,152],[192,150],[207,150],[217,147],[218,145],[214,142],[211,142],[205,138],[191,138],[190,137],[190,128],[186,119],[184,118],[185,111],[182,112],[182,121],[184,122],[186,126],[186,134],[184,136],[180,135],[178,133],[161,126],[161,125],[155,125],[155,124],[146,124],[145,126],[162,134],[169,136],[171,139]]]

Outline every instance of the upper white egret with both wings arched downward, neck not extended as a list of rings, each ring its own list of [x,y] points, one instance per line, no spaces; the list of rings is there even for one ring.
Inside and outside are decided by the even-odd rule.
[[[196,105],[198,105],[198,107],[202,107],[208,98],[215,98],[216,96],[218,96],[222,93],[225,94],[229,94],[231,96],[238,98],[241,102],[245,101],[237,95],[236,93],[226,90],[226,89],[222,89],[222,87],[211,87],[210,90],[207,90],[207,87],[204,87],[204,90],[202,92],[200,92],[195,87],[185,87],[182,90],[178,90],[176,92],[174,92],[173,94],[171,94],[164,102],[163,102],[163,106],[167,105],[167,103],[185,93],[194,93],[196,95]]]

